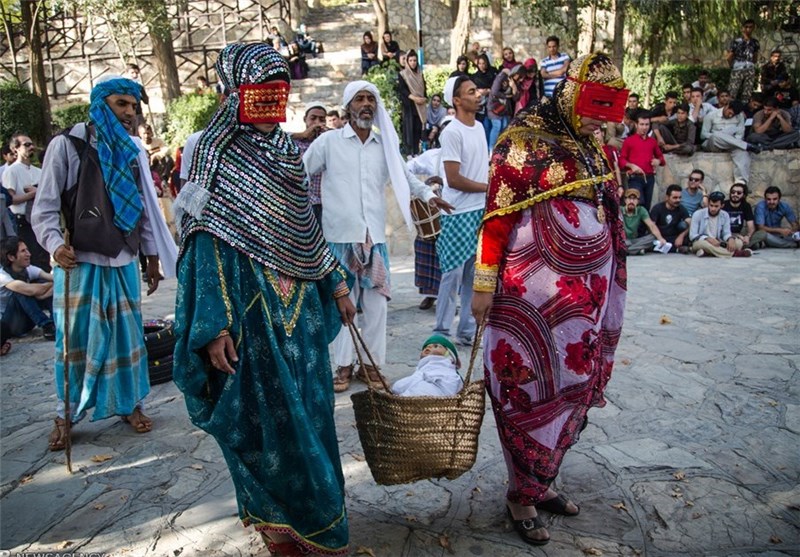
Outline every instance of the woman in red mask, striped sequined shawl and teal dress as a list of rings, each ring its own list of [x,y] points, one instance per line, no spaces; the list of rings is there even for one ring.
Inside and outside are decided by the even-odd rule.
[[[270,552],[344,554],[328,343],[355,308],[279,125],[286,62],[270,46],[236,44],[216,70],[231,94],[176,200],[175,383],[222,449],[240,518]]]

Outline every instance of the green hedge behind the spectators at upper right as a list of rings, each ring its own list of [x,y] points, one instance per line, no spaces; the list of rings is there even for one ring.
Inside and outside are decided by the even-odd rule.
[[[630,89],[631,92],[641,95],[642,103],[644,103],[644,98],[647,94],[647,84],[650,80],[651,70],[652,66],[649,64],[638,65],[632,60],[625,61],[623,70],[625,86]],[[653,81],[651,104],[663,101],[667,91],[675,91],[680,98],[681,86],[684,83],[697,81],[697,76],[702,70],[708,72],[709,81],[716,83],[717,87],[727,87],[731,76],[730,68],[707,68],[700,65],[666,64],[659,66],[656,70],[655,79]]]

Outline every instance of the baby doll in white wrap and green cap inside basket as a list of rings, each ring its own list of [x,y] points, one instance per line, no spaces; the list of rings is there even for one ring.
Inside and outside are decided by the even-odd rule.
[[[433,335],[422,345],[417,369],[392,386],[400,396],[455,396],[464,386],[456,347],[446,337]]]

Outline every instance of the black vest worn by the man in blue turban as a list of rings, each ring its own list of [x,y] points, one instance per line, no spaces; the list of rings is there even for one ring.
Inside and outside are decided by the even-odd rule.
[[[69,230],[71,245],[79,251],[90,251],[108,257],[118,256],[125,246],[137,253],[142,220],[139,219],[129,234],[114,225],[114,206],[106,192],[100,158],[97,149],[88,142],[89,126],[86,126],[85,139],[71,136],[69,132],[70,130],[65,131],[64,135],[72,142],[81,161],[77,183],[61,194],[61,211]],[[138,186],[139,166],[134,162],[131,170]]]

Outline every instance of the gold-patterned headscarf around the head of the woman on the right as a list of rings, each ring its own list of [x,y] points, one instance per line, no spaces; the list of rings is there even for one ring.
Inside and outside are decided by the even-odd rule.
[[[579,102],[580,86],[585,82],[599,83],[619,90],[625,87],[619,68],[602,52],[586,54],[571,63],[567,78],[555,87],[553,100],[573,130],[580,128],[580,117],[575,109]],[[627,94],[625,97],[627,98]]]

